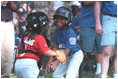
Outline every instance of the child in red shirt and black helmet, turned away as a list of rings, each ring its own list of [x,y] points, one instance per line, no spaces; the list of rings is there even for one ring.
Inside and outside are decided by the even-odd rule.
[[[30,13],[27,17],[27,30],[22,37],[16,56],[15,72],[18,78],[38,78],[41,55],[55,56],[60,62],[65,63],[65,54],[52,51],[46,42],[48,17],[43,12]],[[63,57],[63,60],[60,58]],[[37,63],[38,62],[38,63]]]

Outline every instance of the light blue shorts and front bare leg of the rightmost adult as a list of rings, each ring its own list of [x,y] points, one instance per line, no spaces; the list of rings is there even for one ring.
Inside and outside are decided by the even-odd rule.
[[[109,59],[112,51],[112,46],[116,44],[117,18],[103,16],[103,33],[102,42],[103,57],[102,57],[102,78],[107,77],[109,69]]]

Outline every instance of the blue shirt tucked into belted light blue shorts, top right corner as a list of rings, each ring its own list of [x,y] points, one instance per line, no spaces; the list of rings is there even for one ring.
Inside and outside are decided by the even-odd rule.
[[[102,13],[117,15],[117,4],[115,1],[102,2]]]

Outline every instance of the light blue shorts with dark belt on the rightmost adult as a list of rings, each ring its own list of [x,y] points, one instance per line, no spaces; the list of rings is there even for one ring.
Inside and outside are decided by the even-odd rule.
[[[111,16],[103,16],[103,34],[101,45],[117,44],[117,18]]]

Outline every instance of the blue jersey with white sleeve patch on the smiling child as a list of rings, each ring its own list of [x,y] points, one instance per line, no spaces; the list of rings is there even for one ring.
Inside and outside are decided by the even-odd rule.
[[[70,48],[70,56],[80,50],[76,41],[76,34],[71,27],[68,27],[65,31],[57,28],[55,30],[53,42],[58,45],[59,49],[64,50],[65,48]]]

